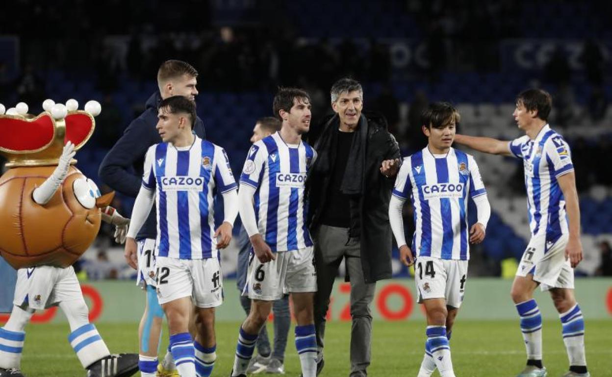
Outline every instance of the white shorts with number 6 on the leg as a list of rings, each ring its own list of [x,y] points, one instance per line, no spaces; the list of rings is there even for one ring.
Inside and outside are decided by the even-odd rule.
[[[259,262],[251,254],[247,284],[242,296],[263,301],[275,301],[286,293],[316,292],[316,271],[313,247],[293,251],[278,251],[276,259]]]

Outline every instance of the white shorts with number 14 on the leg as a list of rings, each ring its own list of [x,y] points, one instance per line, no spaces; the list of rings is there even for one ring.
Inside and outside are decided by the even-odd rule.
[[[414,275],[419,304],[424,299],[443,298],[447,306],[461,307],[468,278],[467,260],[417,257]]]

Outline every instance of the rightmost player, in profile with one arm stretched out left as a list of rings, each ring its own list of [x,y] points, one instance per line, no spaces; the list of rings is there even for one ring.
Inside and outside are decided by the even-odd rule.
[[[542,317],[533,292],[550,291],[561,318],[570,370],[565,377],[588,377],[584,319],[573,293],[573,269],[582,260],[580,208],[572,156],[561,134],[548,125],[550,94],[529,89],[517,97],[513,116],[526,134],[513,141],[457,135],[455,141],[480,152],[523,160],[531,240],[512,283],[521,318],[527,365],[519,377],[546,376],[542,364]]]

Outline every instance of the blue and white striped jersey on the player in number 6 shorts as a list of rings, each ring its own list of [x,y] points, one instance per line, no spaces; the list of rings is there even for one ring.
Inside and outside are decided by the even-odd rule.
[[[304,183],[315,158],[315,150],[306,142],[291,147],[278,132],[248,151],[240,183],[256,189],[257,227],[272,251],[312,246]]]

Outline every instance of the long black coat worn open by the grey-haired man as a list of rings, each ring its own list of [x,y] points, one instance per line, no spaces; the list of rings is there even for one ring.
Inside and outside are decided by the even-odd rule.
[[[324,119],[321,133],[314,141],[318,157],[307,181],[312,232],[315,232],[321,225],[321,214],[326,206],[327,192],[336,158],[334,139],[337,133],[335,130],[339,122],[338,115]],[[367,130],[363,128],[363,125],[366,125]],[[361,153],[365,155],[360,156],[362,163],[358,165],[362,169],[362,174],[351,174],[350,162],[345,172],[346,180],[350,180],[351,177],[359,177],[359,175],[363,177],[360,182],[360,192],[349,196],[351,207],[349,235],[360,240],[361,264],[365,282],[376,282],[381,279],[389,279],[392,275],[389,200],[395,183],[395,177],[386,178],[379,169],[384,160],[400,158],[400,147],[395,137],[387,131],[387,122],[382,115],[362,113],[356,132],[362,136],[362,141],[365,143],[360,148]],[[359,136],[356,135],[356,139],[358,138]],[[355,145],[356,143],[353,142],[351,149]],[[351,158],[350,154],[349,158]],[[346,186],[351,186],[351,182]]]

